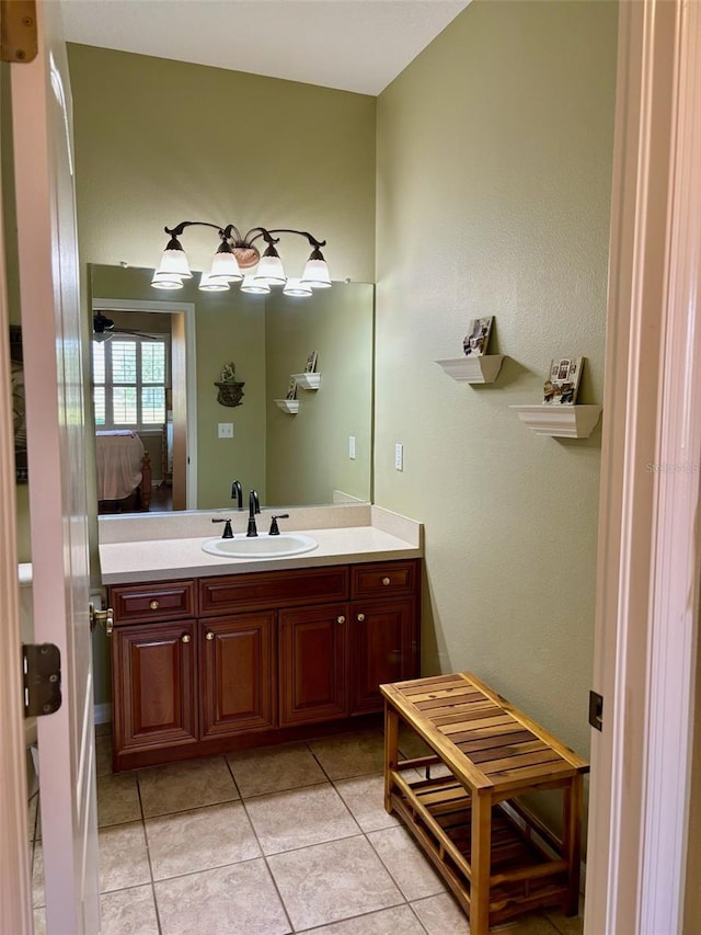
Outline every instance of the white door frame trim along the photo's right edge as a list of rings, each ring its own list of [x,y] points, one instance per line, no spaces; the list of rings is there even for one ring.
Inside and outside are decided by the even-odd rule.
[[[700,24],[683,0],[620,4],[590,935],[681,925],[701,503]]]

